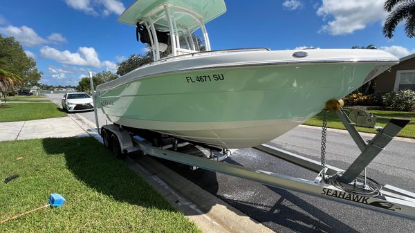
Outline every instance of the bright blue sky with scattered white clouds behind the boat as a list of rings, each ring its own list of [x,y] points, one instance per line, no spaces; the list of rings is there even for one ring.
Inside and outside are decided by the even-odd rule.
[[[0,4],[0,34],[15,37],[44,74],[42,84],[77,86],[88,71],[116,72],[145,53],[133,26],[117,22],[136,0],[13,0]],[[227,12],[210,21],[212,50],[351,48],[374,44],[396,57],[415,53],[415,38],[398,25],[382,35],[384,0],[225,0]]]

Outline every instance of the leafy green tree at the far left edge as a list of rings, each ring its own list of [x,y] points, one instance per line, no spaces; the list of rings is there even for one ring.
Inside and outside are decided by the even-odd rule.
[[[14,37],[0,35],[0,68],[20,77],[24,86],[39,82],[42,72],[37,70],[35,59],[28,57]]]

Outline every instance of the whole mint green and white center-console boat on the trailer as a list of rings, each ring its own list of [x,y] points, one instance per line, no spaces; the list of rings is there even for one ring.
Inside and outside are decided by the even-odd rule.
[[[253,147],[398,64],[376,49],[212,50],[205,24],[225,11],[222,0],[133,3],[118,21],[136,26],[154,62],[97,86],[97,106],[122,127],[223,149]]]

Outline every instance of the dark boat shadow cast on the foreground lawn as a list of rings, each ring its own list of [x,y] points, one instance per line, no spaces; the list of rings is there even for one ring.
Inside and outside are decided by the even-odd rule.
[[[95,139],[45,138],[42,143],[51,156],[64,153],[66,167],[91,189],[116,201],[176,211],[124,161],[117,160]]]

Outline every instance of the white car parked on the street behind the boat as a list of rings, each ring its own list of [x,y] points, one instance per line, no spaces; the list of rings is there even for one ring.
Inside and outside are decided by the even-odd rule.
[[[84,92],[66,93],[62,97],[62,108],[67,112],[93,111],[93,100]]]

